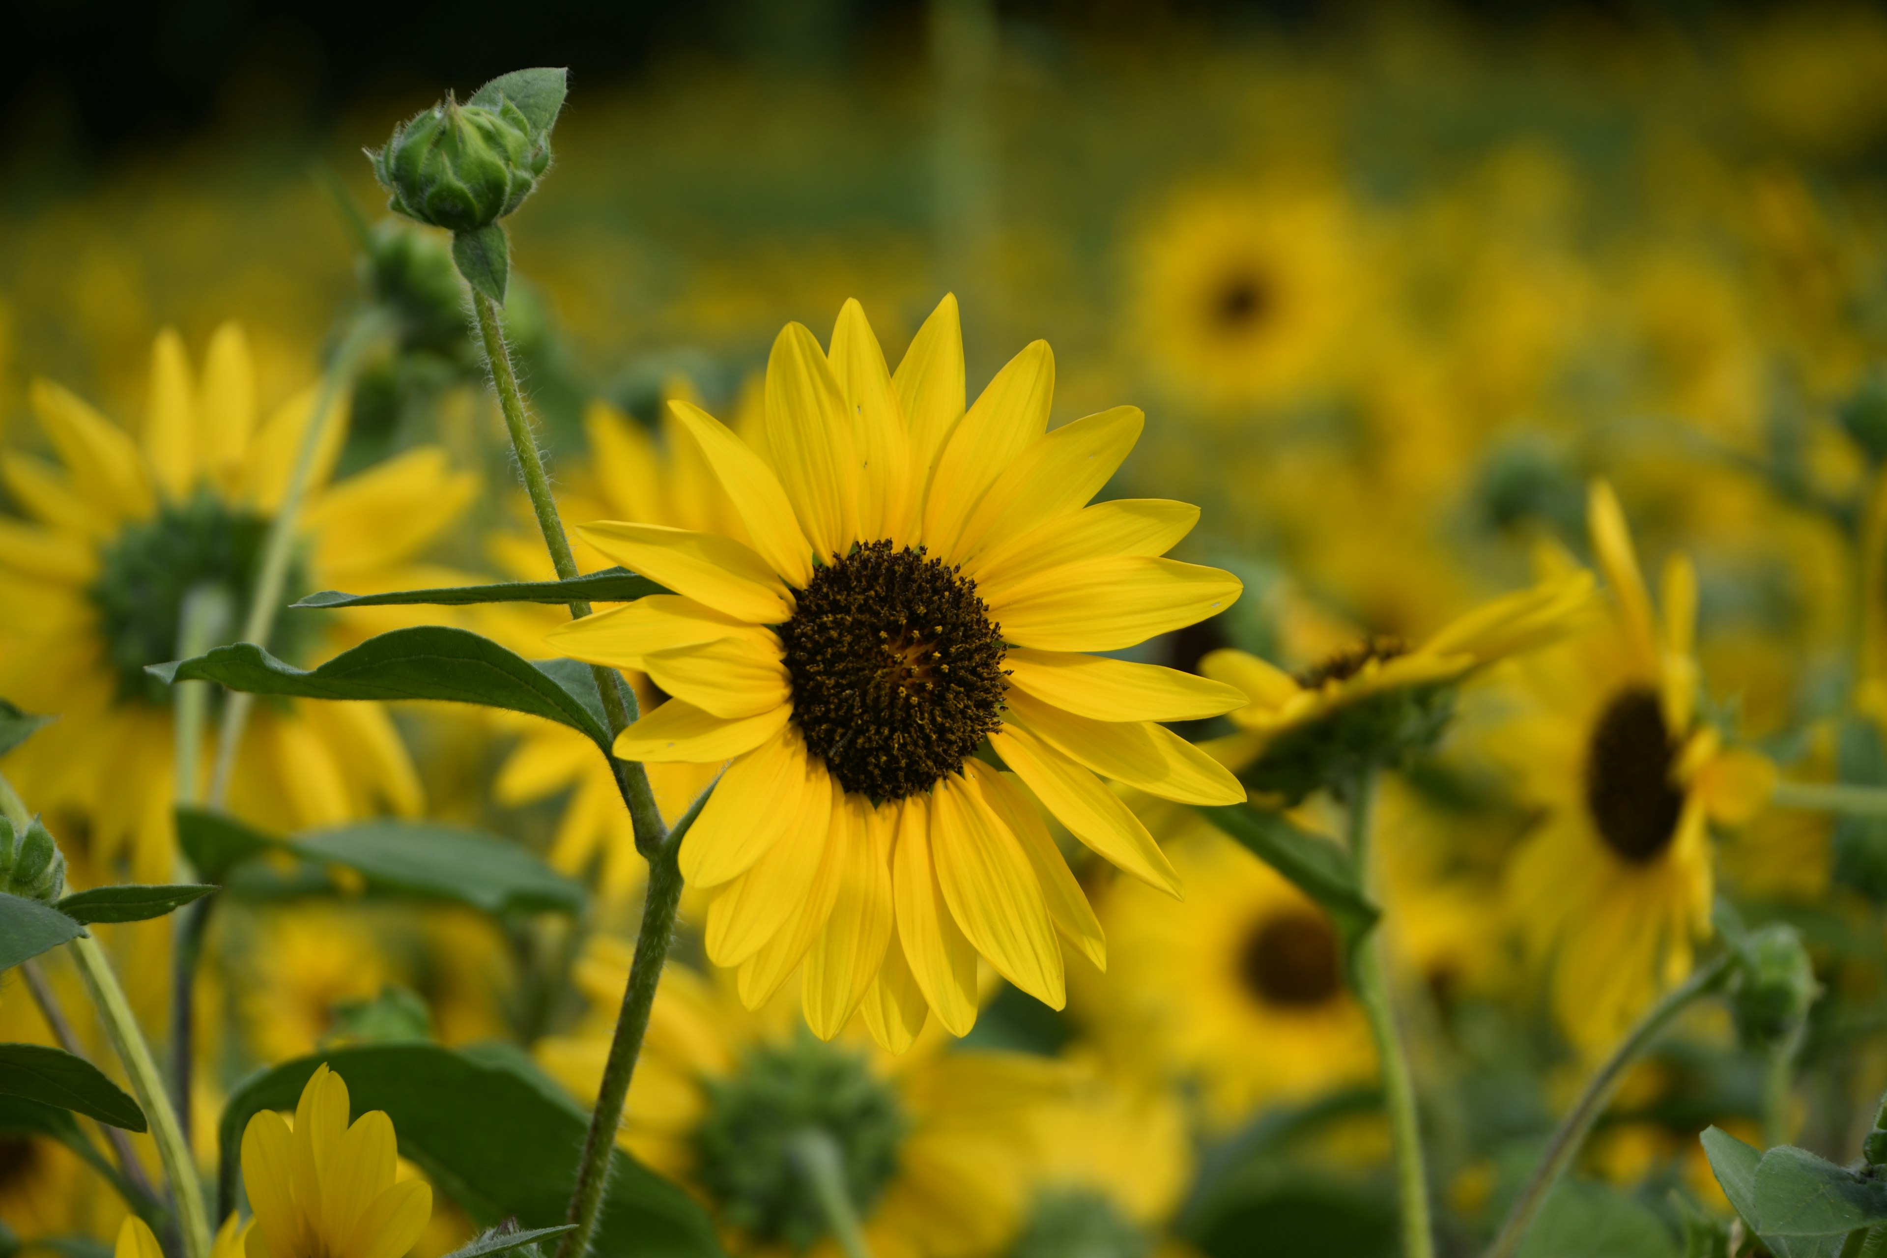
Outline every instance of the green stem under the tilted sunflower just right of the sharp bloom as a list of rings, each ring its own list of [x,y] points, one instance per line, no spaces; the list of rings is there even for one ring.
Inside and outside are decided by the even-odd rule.
[[[1349,807],[1349,852],[1357,873],[1372,900],[1376,894],[1376,862],[1370,852],[1370,805],[1376,794],[1376,771],[1362,770],[1345,792]],[[1376,1039],[1376,1058],[1383,1075],[1383,1109],[1389,1113],[1389,1147],[1396,1166],[1396,1205],[1402,1215],[1402,1252],[1408,1258],[1434,1258],[1434,1224],[1428,1218],[1428,1173],[1423,1166],[1421,1115],[1415,1107],[1415,1081],[1410,1075],[1408,1052],[1396,1026],[1394,1005],[1389,1000],[1387,943],[1378,926],[1359,939],[1351,956],[1349,979],[1357,1003]]]

